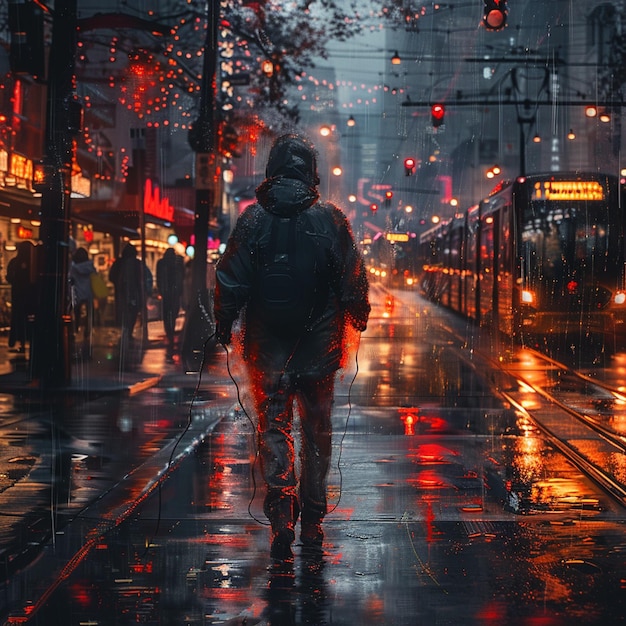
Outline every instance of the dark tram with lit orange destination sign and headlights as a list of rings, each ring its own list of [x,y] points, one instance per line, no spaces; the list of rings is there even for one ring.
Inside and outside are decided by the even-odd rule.
[[[626,338],[624,181],[532,174],[422,233],[430,299],[526,342]]]

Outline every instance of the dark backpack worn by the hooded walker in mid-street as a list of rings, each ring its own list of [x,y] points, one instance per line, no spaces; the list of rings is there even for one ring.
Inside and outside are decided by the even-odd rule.
[[[299,333],[324,310],[328,280],[319,238],[297,228],[298,218],[271,216],[267,246],[259,250],[251,308],[281,333]]]

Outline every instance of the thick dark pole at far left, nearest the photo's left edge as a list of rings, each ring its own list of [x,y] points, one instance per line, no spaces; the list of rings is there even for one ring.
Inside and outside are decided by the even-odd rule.
[[[44,161],[50,173],[41,197],[37,255],[38,306],[31,346],[32,375],[41,387],[70,380],[68,265],[72,132],[79,131],[74,100],[77,0],[57,0],[50,47]]]

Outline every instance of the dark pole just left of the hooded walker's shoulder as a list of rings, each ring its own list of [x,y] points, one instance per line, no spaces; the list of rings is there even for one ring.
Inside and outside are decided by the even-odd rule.
[[[209,218],[218,199],[216,110],[217,41],[219,3],[207,3],[207,31],[204,44],[200,112],[189,131],[189,145],[196,153],[196,211],[194,257],[192,261],[192,301],[185,317],[181,356],[188,372],[198,372],[204,360],[206,343],[212,333],[212,313],[207,288],[207,240]]]

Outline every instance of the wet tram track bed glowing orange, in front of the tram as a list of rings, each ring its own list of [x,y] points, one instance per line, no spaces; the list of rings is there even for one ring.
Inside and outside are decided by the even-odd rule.
[[[394,294],[405,303],[412,300],[421,305],[406,292]],[[612,383],[603,383],[530,348],[494,347],[484,336],[478,338],[482,329],[472,328],[468,334],[466,327],[463,335],[455,320],[458,318],[451,314],[444,330],[455,338],[459,357],[475,369],[488,369],[495,391],[532,420],[581,472],[626,507],[626,390],[619,381],[613,378]],[[598,371],[595,374],[601,378]]]

